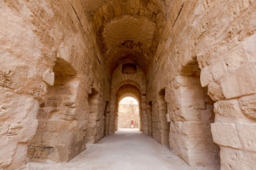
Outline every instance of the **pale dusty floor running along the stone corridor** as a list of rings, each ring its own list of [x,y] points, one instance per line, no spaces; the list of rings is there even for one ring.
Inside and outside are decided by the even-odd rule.
[[[33,169],[86,169],[86,170],[215,170],[219,167],[190,167],[176,155],[156,142],[153,138],[143,135],[138,130],[117,131],[114,135],[104,137],[70,162],[34,163]]]

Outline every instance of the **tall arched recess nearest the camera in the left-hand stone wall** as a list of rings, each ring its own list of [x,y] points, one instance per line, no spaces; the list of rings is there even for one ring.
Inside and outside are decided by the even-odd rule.
[[[78,120],[76,96],[80,80],[71,64],[58,57],[53,72],[44,75],[44,81],[48,83],[48,92],[40,101],[38,128],[28,142],[28,157],[35,162],[65,162],[85,149],[84,139],[75,140],[79,131],[74,127]]]

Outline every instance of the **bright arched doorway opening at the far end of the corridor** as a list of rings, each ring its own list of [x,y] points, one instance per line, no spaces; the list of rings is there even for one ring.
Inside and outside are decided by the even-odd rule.
[[[139,103],[135,98],[125,97],[118,106],[118,130],[139,130]]]

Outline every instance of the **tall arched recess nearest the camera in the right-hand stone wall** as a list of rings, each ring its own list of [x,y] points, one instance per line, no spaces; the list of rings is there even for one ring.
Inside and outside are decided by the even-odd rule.
[[[201,70],[191,60],[166,87],[170,149],[190,165],[218,165],[219,148],[213,142],[213,101],[201,86]]]

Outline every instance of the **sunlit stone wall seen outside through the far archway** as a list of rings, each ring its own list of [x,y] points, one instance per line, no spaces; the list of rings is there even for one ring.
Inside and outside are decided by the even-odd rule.
[[[134,128],[139,128],[139,105],[121,102],[118,106],[118,128],[132,128],[132,120]]]

